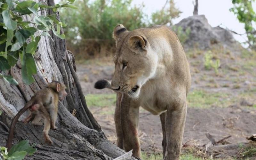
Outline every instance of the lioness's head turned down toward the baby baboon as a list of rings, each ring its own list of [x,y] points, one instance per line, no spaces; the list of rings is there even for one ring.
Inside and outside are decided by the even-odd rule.
[[[113,31],[116,54],[111,87],[128,93],[132,98],[139,97],[143,84],[156,73],[157,54],[150,47],[144,32],[141,29],[128,31],[122,24],[117,25]]]

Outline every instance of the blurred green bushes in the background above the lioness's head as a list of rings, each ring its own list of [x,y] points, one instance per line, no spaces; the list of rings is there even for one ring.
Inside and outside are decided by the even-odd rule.
[[[128,30],[143,28],[152,24],[172,24],[180,11],[173,0],[167,1],[162,10],[154,12],[150,18],[143,12],[144,5],[132,6],[132,0],[78,0],[76,10],[61,10],[61,20],[67,23],[64,29],[67,41],[79,39],[105,39],[112,41],[112,32],[117,24]]]

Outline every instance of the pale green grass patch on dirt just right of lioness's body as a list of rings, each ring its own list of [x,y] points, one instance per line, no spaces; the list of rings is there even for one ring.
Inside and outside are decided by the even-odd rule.
[[[188,93],[187,101],[189,107],[208,108],[211,106],[225,107],[228,94],[221,92],[206,92],[194,90]]]

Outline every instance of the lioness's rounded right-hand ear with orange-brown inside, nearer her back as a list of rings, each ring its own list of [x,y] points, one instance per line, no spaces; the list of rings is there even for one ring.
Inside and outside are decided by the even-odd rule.
[[[147,51],[147,49],[146,49],[147,40],[141,35],[131,36],[131,38],[128,41],[128,45],[133,50],[141,50],[142,49],[144,51]]]

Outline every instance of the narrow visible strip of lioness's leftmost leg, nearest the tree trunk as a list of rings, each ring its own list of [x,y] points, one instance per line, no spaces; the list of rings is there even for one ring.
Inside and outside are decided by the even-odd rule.
[[[122,93],[117,93],[116,95],[116,109],[115,109],[115,125],[116,125],[116,135],[117,135],[117,147],[124,149],[124,138],[123,129],[121,124],[121,99]]]

